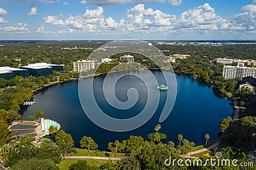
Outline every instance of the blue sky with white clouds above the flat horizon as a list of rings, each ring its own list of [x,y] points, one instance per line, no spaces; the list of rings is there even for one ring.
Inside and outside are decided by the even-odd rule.
[[[256,39],[256,0],[0,0],[0,39]]]

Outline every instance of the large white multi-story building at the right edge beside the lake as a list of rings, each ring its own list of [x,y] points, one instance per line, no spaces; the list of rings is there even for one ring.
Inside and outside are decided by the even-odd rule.
[[[256,78],[256,67],[244,67],[243,63],[238,63],[237,66],[224,66],[223,67],[223,77],[236,78],[236,77],[247,77],[252,76]]]

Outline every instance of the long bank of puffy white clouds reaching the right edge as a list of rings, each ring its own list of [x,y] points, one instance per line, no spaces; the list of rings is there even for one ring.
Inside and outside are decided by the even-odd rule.
[[[176,1],[179,2],[179,1]],[[173,4],[174,5],[174,4]],[[243,13],[233,17],[222,18],[216,14],[210,4],[184,11],[179,17],[172,13],[164,13],[161,10],[145,8],[144,4],[137,4],[127,9],[126,17],[116,20],[113,16],[105,17],[104,9],[98,6],[92,10],[86,10],[81,15],[58,15],[44,17],[45,24],[55,27],[63,27],[70,33],[90,34],[181,34],[182,32],[200,32],[206,34],[218,31],[255,31],[256,29],[256,5],[243,6]],[[115,30],[115,31],[113,31]],[[44,31],[44,25],[38,28]]]

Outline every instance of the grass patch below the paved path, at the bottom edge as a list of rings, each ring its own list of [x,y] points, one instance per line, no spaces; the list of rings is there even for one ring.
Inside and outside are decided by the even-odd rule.
[[[78,160],[83,160],[83,159],[61,160],[61,162],[59,164],[60,170],[67,170],[71,164],[76,163]],[[86,161],[90,164],[90,166],[102,166],[106,162],[109,162],[109,160],[95,160],[95,159],[86,159]],[[114,163],[116,163],[116,162],[114,162]]]

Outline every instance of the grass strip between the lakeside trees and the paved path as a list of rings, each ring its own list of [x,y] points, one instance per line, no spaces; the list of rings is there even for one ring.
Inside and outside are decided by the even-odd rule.
[[[84,150],[84,149],[76,149],[77,153],[73,153],[72,156],[97,156],[95,151],[90,151],[88,152],[88,150]],[[105,153],[109,153],[110,157],[112,157],[112,153],[111,152],[98,152],[98,157],[106,157]],[[70,154],[67,154],[68,156],[70,156]],[[125,157],[125,153],[117,153],[117,155],[115,154],[114,157]]]

